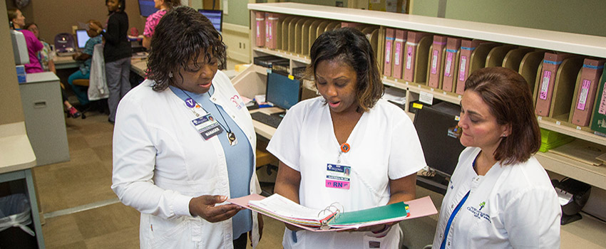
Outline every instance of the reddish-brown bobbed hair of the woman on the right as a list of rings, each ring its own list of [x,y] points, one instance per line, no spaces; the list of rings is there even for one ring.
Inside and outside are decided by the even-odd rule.
[[[503,165],[527,161],[540,148],[540,129],[533,107],[533,93],[526,80],[509,68],[482,68],[465,82],[465,90],[477,92],[501,125],[511,134],[503,137],[494,157]]]

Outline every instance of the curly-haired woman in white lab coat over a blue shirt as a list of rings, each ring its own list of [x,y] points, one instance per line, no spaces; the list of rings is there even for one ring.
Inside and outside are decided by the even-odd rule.
[[[156,28],[148,80],[120,101],[112,189],[141,212],[141,248],[253,247],[257,215],[224,203],[259,193],[255,130],[229,78],[225,43],[183,6]]]

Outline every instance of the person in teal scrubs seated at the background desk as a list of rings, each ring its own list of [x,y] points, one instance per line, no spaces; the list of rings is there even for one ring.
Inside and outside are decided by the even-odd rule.
[[[100,21],[89,20],[88,23],[96,23],[96,25],[101,26]],[[73,93],[78,98],[78,102],[80,105],[86,106],[88,105],[88,88],[82,85],[73,85],[73,80],[77,79],[88,79],[91,77],[91,60],[93,59],[93,52],[95,51],[95,45],[99,43],[103,43],[103,39],[101,38],[100,33],[98,33],[95,29],[89,28],[86,33],[88,34],[88,41],[84,45],[84,50],[82,53],[75,53],[71,57],[73,60],[76,60],[80,65],[80,69],[76,72],[73,72],[69,75],[67,82],[71,86]]]

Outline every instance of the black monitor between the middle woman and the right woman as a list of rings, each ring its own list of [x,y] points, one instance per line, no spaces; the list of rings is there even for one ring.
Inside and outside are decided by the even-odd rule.
[[[431,107],[416,110],[414,116],[427,166],[446,176],[453,174],[458,156],[465,149],[453,133],[458,123],[455,117]]]

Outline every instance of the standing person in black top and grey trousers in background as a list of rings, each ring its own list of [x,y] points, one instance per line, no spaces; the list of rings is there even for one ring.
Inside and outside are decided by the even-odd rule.
[[[124,9],[125,0],[106,0],[109,17],[107,31],[103,31],[96,23],[88,23],[91,28],[105,38],[103,59],[106,61],[106,78],[109,90],[108,121],[115,121],[115,110],[118,102],[130,90],[130,42],[126,38],[128,32],[128,16]]]

